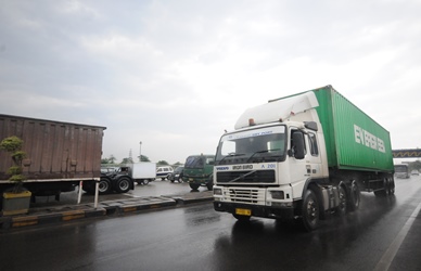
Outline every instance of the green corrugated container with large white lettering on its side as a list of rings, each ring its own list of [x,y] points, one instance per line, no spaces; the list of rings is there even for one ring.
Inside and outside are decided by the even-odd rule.
[[[391,171],[393,155],[387,130],[331,86],[312,90],[327,142],[329,167]]]

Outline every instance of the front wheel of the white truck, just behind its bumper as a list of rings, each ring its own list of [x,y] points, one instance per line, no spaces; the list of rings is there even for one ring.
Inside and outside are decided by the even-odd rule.
[[[316,230],[319,227],[319,203],[315,192],[307,190],[302,206],[303,227],[306,231]]]

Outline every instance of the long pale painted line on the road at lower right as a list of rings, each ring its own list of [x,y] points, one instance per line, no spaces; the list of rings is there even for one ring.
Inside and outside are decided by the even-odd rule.
[[[421,209],[421,203],[412,211],[412,214],[409,216],[407,222],[400,229],[399,233],[397,234],[397,236],[395,237],[393,243],[388,246],[386,253],[383,255],[383,257],[380,259],[380,261],[375,266],[375,268],[374,268],[375,271],[388,270],[393,259],[395,258],[397,251],[399,250],[401,243],[404,242],[405,237],[407,236],[408,231],[411,229],[413,221],[416,220],[418,214],[420,212],[420,209]]]

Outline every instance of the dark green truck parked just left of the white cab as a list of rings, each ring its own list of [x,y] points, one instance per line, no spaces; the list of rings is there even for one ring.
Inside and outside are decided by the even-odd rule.
[[[208,190],[214,185],[214,154],[190,155],[186,159],[183,180],[192,190],[205,185]]]

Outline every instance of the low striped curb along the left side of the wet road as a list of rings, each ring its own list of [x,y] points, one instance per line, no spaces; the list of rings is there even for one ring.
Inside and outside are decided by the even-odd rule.
[[[178,207],[187,204],[210,202],[212,193],[135,197],[93,204],[29,209],[27,215],[0,217],[0,229],[15,229],[49,223],[63,223],[85,218],[141,214],[143,210]]]

